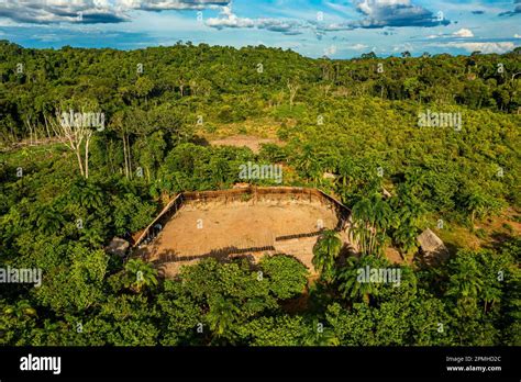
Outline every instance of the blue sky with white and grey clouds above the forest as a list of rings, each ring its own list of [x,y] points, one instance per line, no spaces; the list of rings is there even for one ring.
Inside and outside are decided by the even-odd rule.
[[[503,53],[521,0],[0,0],[0,40],[26,47],[276,46],[350,58]]]

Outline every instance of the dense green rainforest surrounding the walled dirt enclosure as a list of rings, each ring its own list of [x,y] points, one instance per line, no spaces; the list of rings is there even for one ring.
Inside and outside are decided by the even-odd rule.
[[[0,344],[521,345],[520,54],[332,60],[0,42],[0,261],[43,270],[40,286],[1,284]],[[69,111],[102,123],[60,128]],[[422,126],[428,112],[462,123]],[[237,134],[270,143],[211,144]],[[343,261],[324,233],[314,279],[284,254],[163,280],[106,251],[176,192],[233,187],[247,161],[337,195],[370,245]],[[426,227],[451,250],[433,267],[413,256]],[[357,284],[367,265],[400,268],[400,288]]]

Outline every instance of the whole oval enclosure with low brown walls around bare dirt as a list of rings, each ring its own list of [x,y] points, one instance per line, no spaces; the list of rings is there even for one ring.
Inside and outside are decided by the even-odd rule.
[[[312,272],[312,249],[323,229],[335,229],[344,249],[350,210],[318,189],[243,187],[182,192],[136,238],[133,255],[152,261],[165,276],[207,257],[295,256]]]

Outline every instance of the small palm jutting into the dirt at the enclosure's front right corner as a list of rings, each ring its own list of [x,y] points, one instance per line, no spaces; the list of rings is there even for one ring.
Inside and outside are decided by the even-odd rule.
[[[342,240],[336,232],[326,229],[313,247],[312,263],[325,280],[331,280],[334,265],[342,249]]]

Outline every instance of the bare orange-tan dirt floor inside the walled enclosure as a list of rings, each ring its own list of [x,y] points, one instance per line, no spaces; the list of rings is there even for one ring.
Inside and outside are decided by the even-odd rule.
[[[276,252],[292,255],[312,270],[318,231],[337,225],[335,210],[315,201],[192,201],[184,204],[138,255],[160,265],[165,276],[206,257],[250,255],[256,261],[264,254]],[[347,243],[347,235],[341,236]]]

